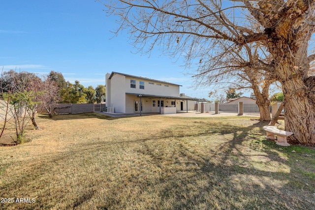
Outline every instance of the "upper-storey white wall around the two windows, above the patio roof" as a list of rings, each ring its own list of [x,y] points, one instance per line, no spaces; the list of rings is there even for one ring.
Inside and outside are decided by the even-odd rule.
[[[136,88],[130,88],[130,80],[136,81]],[[140,89],[140,81],[144,82],[144,89]],[[170,85],[167,83],[158,83],[150,80],[141,80],[138,78],[126,77],[126,92],[139,93],[139,94],[150,94],[150,95],[165,95],[165,96],[178,96],[179,86]],[[149,84],[153,83],[153,84]],[[160,84],[160,85],[158,85]]]

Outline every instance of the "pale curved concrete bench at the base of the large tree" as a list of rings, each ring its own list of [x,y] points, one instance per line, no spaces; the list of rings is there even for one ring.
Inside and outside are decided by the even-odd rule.
[[[290,146],[286,142],[286,137],[291,136],[293,133],[290,131],[279,130],[277,126],[265,125],[262,127],[267,132],[266,139],[276,140],[275,135],[277,135],[277,145],[280,146]]]

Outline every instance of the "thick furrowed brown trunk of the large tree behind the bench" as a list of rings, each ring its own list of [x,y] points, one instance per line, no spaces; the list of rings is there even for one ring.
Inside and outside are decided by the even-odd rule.
[[[289,142],[315,146],[315,101],[309,97],[310,88],[304,83],[310,69],[307,41],[312,33],[295,33],[287,26],[293,27],[294,24],[279,24],[279,28],[271,30],[268,40],[275,61],[275,74],[285,97],[285,130],[293,132],[288,137]]]

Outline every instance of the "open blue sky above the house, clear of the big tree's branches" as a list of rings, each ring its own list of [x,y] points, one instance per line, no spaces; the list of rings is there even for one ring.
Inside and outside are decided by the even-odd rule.
[[[115,36],[116,17],[95,0],[0,0],[0,67],[47,75],[61,72],[84,87],[105,85],[112,71],[182,85],[180,93],[207,98],[211,87],[191,88],[183,62],[154,49],[135,53],[127,31]],[[245,93],[249,96],[250,93]]]

